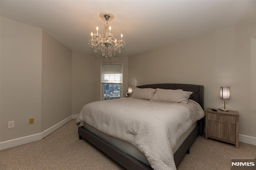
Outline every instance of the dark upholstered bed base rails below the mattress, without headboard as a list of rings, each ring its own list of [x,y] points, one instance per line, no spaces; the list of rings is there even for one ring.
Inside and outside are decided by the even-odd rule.
[[[182,146],[180,146],[180,148],[174,154],[174,162],[176,166],[180,163],[184,154],[189,154],[189,148],[196,139],[196,136],[198,134],[202,136],[202,129],[204,127],[203,119],[201,119],[198,122],[198,126],[193,130],[190,136],[188,136],[188,138],[184,141]],[[79,139],[86,139],[88,142],[96,146],[96,148],[100,149],[102,152],[104,152],[106,155],[108,155],[110,158],[115,160],[118,164],[120,164],[127,170],[152,170],[151,167],[133,158],[132,156],[116,148],[115,146],[109,144],[102,138],[86,130],[84,127],[78,127],[78,134]]]

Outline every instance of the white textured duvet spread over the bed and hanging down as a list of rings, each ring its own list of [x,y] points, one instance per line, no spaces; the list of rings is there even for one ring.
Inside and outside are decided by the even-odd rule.
[[[133,144],[154,170],[176,170],[172,150],[184,132],[204,117],[198,103],[162,103],[135,98],[86,104],[76,123]]]

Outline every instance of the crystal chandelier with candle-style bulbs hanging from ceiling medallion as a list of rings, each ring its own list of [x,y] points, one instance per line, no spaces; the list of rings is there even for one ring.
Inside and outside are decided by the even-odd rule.
[[[121,52],[121,48],[124,47],[125,42],[123,40],[123,34],[121,34],[121,40],[116,40],[114,34],[111,31],[111,26],[108,24],[108,21],[114,19],[114,15],[110,12],[100,13],[100,18],[107,23],[104,24],[102,34],[98,33],[98,27],[96,27],[96,34],[91,33],[91,39],[89,41],[90,47],[94,47],[94,52],[97,52],[97,49],[100,49],[103,56],[112,57],[112,51],[116,55],[116,51]]]

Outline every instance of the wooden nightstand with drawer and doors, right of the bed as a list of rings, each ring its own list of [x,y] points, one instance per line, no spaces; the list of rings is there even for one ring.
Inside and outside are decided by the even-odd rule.
[[[217,110],[217,109],[216,109]],[[212,111],[208,108],[205,117],[205,139],[214,138],[232,143],[239,148],[238,111]]]

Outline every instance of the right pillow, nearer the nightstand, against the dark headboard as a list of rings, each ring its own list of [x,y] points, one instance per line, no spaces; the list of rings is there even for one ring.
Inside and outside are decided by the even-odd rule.
[[[171,102],[171,103],[188,103],[188,98],[193,92],[183,91],[182,89],[156,89],[156,93],[150,101]]]

